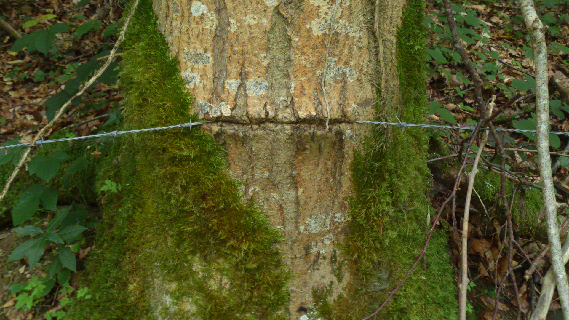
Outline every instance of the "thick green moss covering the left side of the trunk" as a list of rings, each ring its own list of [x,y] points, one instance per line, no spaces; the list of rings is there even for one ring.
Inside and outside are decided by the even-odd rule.
[[[125,127],[196,121],[149,0],[124,47]],[[123,196],[105,199],[101,247],[88,268],[93,299],[75,306],[77,318],[288,317],[290,273],[275,248],[281,232],[242,201],[213,137],[199,129],[139,133],[107,161],[98,183],[121,181]]]

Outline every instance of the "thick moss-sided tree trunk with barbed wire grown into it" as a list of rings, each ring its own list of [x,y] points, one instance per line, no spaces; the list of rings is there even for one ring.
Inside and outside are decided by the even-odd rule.
[[[116,299],[150,318],[352,319],[373,311],[424,240],[426,138],[420,129],[344,121],[423,121],[422,3],[155,0],[151,7],[180,70],[156,54],[166,45],[141,2],[122,66],[126,126],[187,122],[184,112],[216,122],[137,136],[117,149],[121,163],[136,168],[124,164],[119,174],[134,195],[106,204],[123,213],[100,237],[121,238],[122,247],[109,249],[114,258],[102,250],[93,259],[94,290],[121,282],[129,298]],[[398,48],[402,24],[410,49]],[[403,51],[414,67],[402,66]],[[182,89],[193,97],[191,112]],[[203,142],[209,135],[226,153]],[[121,219],[132,229],[111,235]],[[438,239],[427,270],[411,277],[415,284],[383,318],[454,317],[455,285]],[[97,280],[93,268],[113,263],[126,276]],[[102,296],[98,303],[112,301]]]

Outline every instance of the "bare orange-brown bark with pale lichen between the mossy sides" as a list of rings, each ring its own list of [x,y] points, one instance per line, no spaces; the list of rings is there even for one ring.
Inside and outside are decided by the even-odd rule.
[[[388,84],[383,92],[389,105],[397,108],[395,32],[403,5],[154,1],[159,28],[196,99],[193,111],[226,121],[205,130],[226,147],[230,172],[245,183],[245,198],[255,199],[284,232],[280,247],[294,274],[292,319],[313,306],[313,288],[333,282],[333,299],[349,280],[336,244],[349,233],[353,150],[369,130],[347,124],[324,130],[324,64],[332,123],[371,120],[373,83],[380,79]],[[380,23],[370,32],[376,12]]]

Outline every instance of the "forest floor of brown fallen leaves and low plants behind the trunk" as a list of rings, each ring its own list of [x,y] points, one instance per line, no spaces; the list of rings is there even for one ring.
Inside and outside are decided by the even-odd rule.
[[[458,4],[458,3],[457,3]],[[428,40],[428,79],[427,124],[443,124],[453,126],[475,125],[480,114],[474,106],[471,81],[463,70],[463,63],[452,50],[450,36],[445,30],[445,18],[441,13],[440,1],[427,3],[426,26],[429,29]],[[99,4],[88,1],[67,0],[5,0],[0,2],[0,12],[20,34],[31,34],[34,31],[47,29],[56,23],[67,23],[71,34],[57,34],[50,52],[43,54],[20,50],[12,52],[14,36],[6,30],[0,30],[2,39],[0,50],[0,142],[30,142],[34,133],[48,122],[46,103],[57,93],[64,91],[68,81],[79,77],[80,65],[104,56],[117,39],[116,30],[121,18],[123,3],[105,1]],[[547,24],[547,44],[549,52],[549,72],[551,77],[550,125],[552,131],[569,131],[569,2],[546,0],[539,3],[542,20]],[[508,129],[535,129],[535,100],[533,97],[533,55],[527,40],[525,27],[519,17],[517,2],[514,1],[472,1],[456,6],[463,45],[471,53],[471,57],[480,66],[480,74],[485,82],[485,99],[496,96],[497,108],[518,92],[522,98],[506,108],[496,118],[494,124]],[[460,19],[459,19],[460,20]],[[98,21],[98,22],[96,22]],[[88,27],[82,27],[88,24]],[[36,44],[40,46],[40,44]],[[39,48],[39,47],[38,47]],[[29,47],[28,47],[29,49]],[[116,62],[121,60],[120,57]],[[98,83],[89,88],[83,99],[68,108],[67,112],[55,123],[46,134],[62,129],[69,130],[73,136],[85,136],[105,130],[109,125],[120,120],[122,96],[117,84]],[[457,165],[457,154],[461,141],[468,132],[459,130],[430,130],[433,145],[428,165],[434,173],[433,190],[431,191],[433,206],[438,208],[444,195],[448,195],[452,183],[441,172],[452,172]],[[535,137],[533,134],[504,133],[501,140],[509,148],[506,159],[510,175],[517,182],[521,180],[527,185],[539,186],[539,172],[536,162]],[[558,162],[554,170],[556,192],[559,202],[566,202],[569,195],[569,139],[567,136],[551,137],[552,162]],[[500,157],[495,152],[495,142],[486,146],[483,162],[486,171],[499,171]],[[85,150],[87,151],[87,150]],[[89,151],[90,152],[90,151]],[[453,177],[451,177],[453,178]],[[503,248],[505,217],[500,215],[501,204],[498,194],[494,199],[481,200],[485,206],[475,204],[472,208],[473,219],[469,227],[469,270],[472,281],[469,303],[469,318],[492,319],[496,302],[494,293],[496,281],[505,275],[507,261]],[[511,195],[509,195],[511,196]],[[484,195],[482,196],[484,198]],[[464,210],[460,200],[457,202],[456,219],[460,221]],[[464,203],[464,202],[462,202]],[[447,211],[446,211],[447,212]],[[534,212],[537,214],[537,212]],[[566,216],[563,214],[561,220]],[[444,224],[454,227],[451,216],[443,216]],[[47,223],[43,220],[39,224]],[[519,224],[524,224],[523,221]],[[534,225],[534,224],[532,224]],[[22,243],[24,236],[10,231],[11,225],[0,228],[0,261],[7,259],[10,251]],[[531,230],[531,232],[528,232]],[[517,229],[516,240],[519,247],[513,248],[515,262],[514,275],[517,279],[518,298],[521,304],[522,318],[527,318],[532,310],[535,297],[539,296],[539,278],[549,268],[549,259],[542,260],[534,276],[526,280],[524,271],[529,268],[534,258],[547,244],[543,228]],[[460,254],[457,239],[453,239],[449,231],[449,250],[452,264],[458,270]],[[86,241],[77,257],[83,260],[92,249],[92,241]],[[47,296],[35,304],[35,307],[17,308],[16,294],[10,293],[13,284],[23,284],[33,277],[45,276],[43,265],[34,270],[27,268],[22,260],[17,268],[2,264],[0,267],[0,319],[43,319],[48,310],[62,305],[61,300],[68,298],[69,293],[60,294],[61,288],[54,287]],[[78,286],[76,276],[71,278],[71,285]],[[458,271],[456,272],[458,278]],[[554,296],[551,309],[559,309],[559,301]],[[515,318],[518,310],[518,299],[515,297],[513,284],[505,281],[504,290],[498,299],[497,319]]]

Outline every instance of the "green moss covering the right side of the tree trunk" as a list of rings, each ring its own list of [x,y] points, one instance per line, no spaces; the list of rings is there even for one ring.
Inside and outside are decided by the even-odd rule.
[[[407,2],[397,32],[402,106],[395,106],[395,115],[409,123],[422,123],[426,114],[423,5],[420,0]],[[372,313],[417,259],[427,214],[433,215],[426,198],[427,144],[423,129],[394,129],[388,139],[382,132],[373,133],[364,151],[355,154],[351,234],[343,243],[354,276],[345,298],[332,305],[323,289],[313,292],[319,316],[356,319]],[[421,263],[411,273],[378,318],[455,319],[456,284],[449,262],[447,237],[436,230],[427,249],[426,269]]]

